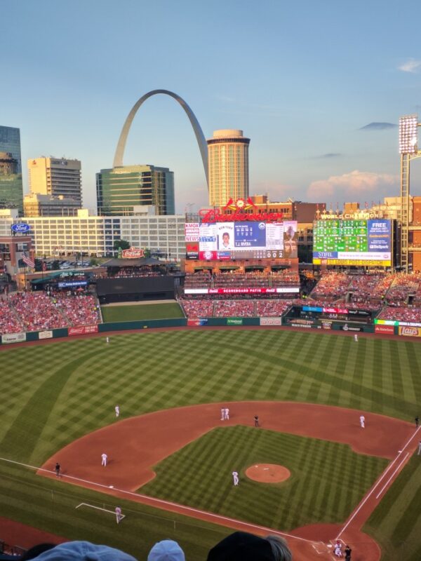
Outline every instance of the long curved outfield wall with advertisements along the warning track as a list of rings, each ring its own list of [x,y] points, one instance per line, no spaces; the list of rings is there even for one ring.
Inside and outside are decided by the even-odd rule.
[[[396,322],[397,323],[397,322]],[[350,333],[375,333],[400,335],[402,337],[421,337],[421,327],[402,325],[379,325],[368,323],[344,323],[335,320],[302,320],[300,318],[171,318],[161,320],[141,320],[100,323],[99,325],[81,325],[80,327],[62,327],[60,329],[11,333],[0,336],[0,344],[13,344],[44,339],[59,339],[81,335],[128,330],[145,330],[163,327],[300,327]]]

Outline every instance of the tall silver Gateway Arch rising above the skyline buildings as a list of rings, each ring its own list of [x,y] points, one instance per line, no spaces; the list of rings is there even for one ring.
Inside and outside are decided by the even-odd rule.
[[[119,137],[119,143],[117,144],[116,153],[114,155],[114,164],[113,164],[114,168],[120,168],[123,165],[124,149],[126,147],[126,141],[127,141],[128,133],[129,133],[130,128],[131,128],[131,123],[132,123],[133,119],[135,118],[135,114],[138,112],[138,109],[140,108],[142,103],[147,100],[148,97],[152,97],[152,95],[157,95],[159,93],[163,93],[164,95],[169,95],[170,97],[173,97],[175,99],[175,101],[177,101],[181,105],[181,107],[185,110],[185,112],[186,112],[186,114],[189,118],[189,121],[192,124],[194,134],[196,135],[197,144],[199,145],[199,150],[200,150],[201,158],[202,158],[202,161],[203,161],[203,170],[204,170],[205,176],[206,176],[206,184],[208,184],[208,189],[209,189],[209,182],[208,182],[208,145],[206,144],[206,139],[203,135],[203,130],[201,130],[201,126],[199,125],[199,121],[196,119],[196,116],[194,115],[192,109],[190,109],[190,107],[187,105],[185,100],[183,100],[182,97],[180,97],[180,95],[177,95],[176,93],[173,93],[169,90],[152,90],[148,93],[145,93],[145,95],[142,95],[142,97],[140,97],[140,100],[138,100],[133,105],[133,108],[131,109],[130,113],[128,114],[128,117],[127,117],[127,119],[126,119],[126,121],[123,125],[123,129],[121,130],[121,135]]]

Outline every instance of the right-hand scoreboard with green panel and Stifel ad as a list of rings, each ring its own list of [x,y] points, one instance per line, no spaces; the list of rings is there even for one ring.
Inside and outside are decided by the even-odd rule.
[[[316,265],[391,266],[392,225],[387,219],[314,222]]]

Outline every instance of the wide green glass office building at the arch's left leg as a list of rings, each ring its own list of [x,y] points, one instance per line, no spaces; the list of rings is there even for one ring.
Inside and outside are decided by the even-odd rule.
[[[154,165],[123,165],[96,176],[98,215],[133,215],[133,207],[154,205],[156,215],[173,215],[174,174]]]

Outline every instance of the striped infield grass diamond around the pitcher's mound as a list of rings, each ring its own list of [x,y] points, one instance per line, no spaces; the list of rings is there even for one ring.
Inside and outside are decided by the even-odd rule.
[[[291,477],[278,484],[252,481],[244,472],[256,463],[286,466]],[[346,520],[387,463],[336,442],[230,426],[161,461],[140,492],[288,531]],[[239,487],[232,471],[239,472]]]

